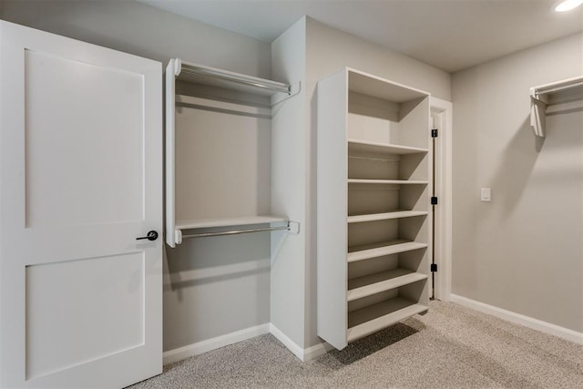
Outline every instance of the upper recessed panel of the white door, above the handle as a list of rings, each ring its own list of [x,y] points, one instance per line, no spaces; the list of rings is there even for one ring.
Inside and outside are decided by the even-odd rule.
[[[25,69],[26,227],[143,220],[143,77],[31,50]]]

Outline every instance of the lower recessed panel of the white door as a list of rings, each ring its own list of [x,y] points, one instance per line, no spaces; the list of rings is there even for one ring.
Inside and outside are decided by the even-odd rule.
[[[142,345],[143,305],[142,253],[27,266],[26,378]]]

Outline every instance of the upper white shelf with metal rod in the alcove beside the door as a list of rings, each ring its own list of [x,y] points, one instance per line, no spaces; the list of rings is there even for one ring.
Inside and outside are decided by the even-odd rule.
[[[179,58],[174,59],[174,75],[179,81],[209,87],[220,87],[251,95],[271,97],[272,105],[279,104],[288,97],[297,94],[300,88],[299,83],[296,87],[270,79],[251,77],[215,67],[189,64]],[[284,97],[277,98],[278,95]]]

